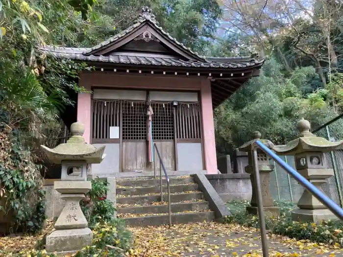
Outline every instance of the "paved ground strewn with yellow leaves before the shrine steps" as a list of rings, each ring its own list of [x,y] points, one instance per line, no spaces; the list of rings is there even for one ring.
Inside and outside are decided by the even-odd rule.
[[[135,247],[129,257],[262,257],[259,231],[215,222],[130,228]],[[268,235],[270,257],[339,257],[335,246]]]

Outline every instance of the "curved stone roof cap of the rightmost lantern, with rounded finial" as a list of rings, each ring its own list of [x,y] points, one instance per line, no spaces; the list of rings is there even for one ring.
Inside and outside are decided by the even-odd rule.
[[[317,137],[310,132],[311,123],[301,118],[296,123],[296,129],[299,131],[298,138],[288,142],[285,145],[275,145],[273,150],[277,154],[298,154],[303,152],[330,152],[343,148],[343,141],[331,142],[325,138]]]

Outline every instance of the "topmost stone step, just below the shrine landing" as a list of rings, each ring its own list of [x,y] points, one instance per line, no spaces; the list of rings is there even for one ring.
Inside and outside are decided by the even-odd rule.
[[[139,178],[139,177],[137,177]],[[192,177],[170,177],[170,184],[177,185],[177,184],[189,184],[195,183],[194,178]],[[154,179],[154,177],[147,177],[146,179],[118,179],[116,181],[117,187],[153,187],[159,186],[160,180]],[[162,179],[162,185],[167,185],[167,180]]]

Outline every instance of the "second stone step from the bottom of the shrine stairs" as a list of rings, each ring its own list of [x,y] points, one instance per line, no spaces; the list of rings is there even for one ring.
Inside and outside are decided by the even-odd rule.
[[[187,210],[200,211],[209,209],[207,201],[203,202],[190,202],[190,203],[174,203],[171,205],[172,212],[182,212]],[[141,213],[163,213],[168,212],[168,203],[163,205],[148,205],[118,208],[117,214],[141,214]]]

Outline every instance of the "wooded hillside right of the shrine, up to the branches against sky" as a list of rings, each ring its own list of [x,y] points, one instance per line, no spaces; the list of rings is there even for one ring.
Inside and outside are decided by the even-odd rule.
[[[259,130],[275,144],[291,140],[295,122],[312,128],[342,110],[342,3],[340,1],[221,0],[221,36],[208,48],[215,56],[259,52],[267,61],[216,110],[218,152],[228,154]],[[342,138],[342,121],[332,129]]]

